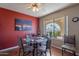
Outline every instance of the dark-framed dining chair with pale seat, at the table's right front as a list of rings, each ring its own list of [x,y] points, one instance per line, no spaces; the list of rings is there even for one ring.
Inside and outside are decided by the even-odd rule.
[[[47,41],[41,42],[41,45],[38,47],[38,50],[41,52],[41,55],[47,56],[47,51],[49,50],[51,56],[51,40],[47,38]]]

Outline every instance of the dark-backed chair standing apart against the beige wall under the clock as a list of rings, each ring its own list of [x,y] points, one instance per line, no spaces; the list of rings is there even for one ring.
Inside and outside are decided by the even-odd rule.
[[[62,55],[64,55],[64,51],[71,51],[75,56],[76,43],[75,43],[75,35],[64,36],[64,45],[62,45]]]

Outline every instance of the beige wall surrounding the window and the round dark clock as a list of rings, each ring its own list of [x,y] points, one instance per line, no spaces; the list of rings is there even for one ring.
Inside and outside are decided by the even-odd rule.
[[[68,30],[69,34],[76,35],[76,52],[79,53],[79,22],[72,22],[73,17],[79,17],[79,5],[74,5],[66,9],[51,13],[40,18],[40,32],[44,34],[44,22],[45,20],[53,20],[54,18],[60,18],[68,16]],[[57,43],[58,44],[58,43]]]

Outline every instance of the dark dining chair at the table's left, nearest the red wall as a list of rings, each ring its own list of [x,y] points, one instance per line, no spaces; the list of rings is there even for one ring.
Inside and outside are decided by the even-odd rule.
[[[33,47],[32,46],[28,46],[28,45],[23,45],[23,41],[22,41],[22,38],[19,37],[18,38],[18,45],[19,45],[19,56],[20,56],[20,53],[21,51],[23,52],[23,56],[26,54],[28,55],[29,52],[32,52],[33,51]]]

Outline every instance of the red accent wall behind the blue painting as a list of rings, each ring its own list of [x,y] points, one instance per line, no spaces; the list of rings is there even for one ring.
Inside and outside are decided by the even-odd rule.
[[[15,18],[32,20],[32,33],[37,34],[38,18],[0,8],[0,49],[17,45],[17,36],[24,37],[28,31],[15,31]]]

